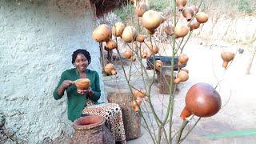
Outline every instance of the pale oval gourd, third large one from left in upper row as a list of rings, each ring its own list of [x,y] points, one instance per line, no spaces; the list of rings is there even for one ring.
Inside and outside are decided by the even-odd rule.
[[[122,40],[124,42],[134,42],[137,35],[138,33],[134,26],[126,26],[125,30],[122,32]]]

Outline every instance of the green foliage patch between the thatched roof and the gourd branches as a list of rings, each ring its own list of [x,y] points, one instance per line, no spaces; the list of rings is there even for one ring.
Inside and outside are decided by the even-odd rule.
[[[115,9],[114,14],[121,18],[122,22],[126,22],[126,20],[130,19],[134,14],[134,6],[127,4],[126,6]]]

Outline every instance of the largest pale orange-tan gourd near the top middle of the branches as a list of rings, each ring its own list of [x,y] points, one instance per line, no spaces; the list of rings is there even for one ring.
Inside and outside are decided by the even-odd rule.
[[[158,28],[163,21],[162,15],[154,10],[147,10],[142,16],[142,26],[148,30]]]

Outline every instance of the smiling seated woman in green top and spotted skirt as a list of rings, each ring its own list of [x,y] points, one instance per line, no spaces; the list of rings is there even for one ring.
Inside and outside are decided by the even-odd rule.
[[[126,143],[126,135],[122,122],[122,110],[118,104],[98,103],[101,96],[98,73],[87,69],[90,64],[90,53],[87,50],[75,50],[72,54],[75,68],[62,73],[58,86],[54,90],[54,99],[62,98],[65,90],[67,94],[67,114],[70,121],[83,115],[94,114],[106,118],[106,126],[110,128],[116,142]],[[74,81],[79,78],[89,78],[88,90],[77,90]]]

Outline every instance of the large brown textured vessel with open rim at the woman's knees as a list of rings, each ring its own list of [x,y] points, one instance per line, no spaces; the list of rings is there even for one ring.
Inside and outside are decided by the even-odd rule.
[[[74,138],[76,144],[114,143],[114,137],[105,126],[105,118],[90,115],[74,121]]]

